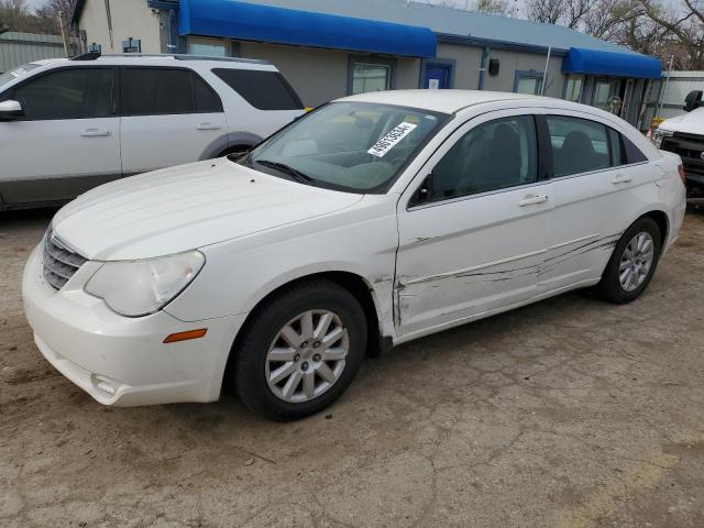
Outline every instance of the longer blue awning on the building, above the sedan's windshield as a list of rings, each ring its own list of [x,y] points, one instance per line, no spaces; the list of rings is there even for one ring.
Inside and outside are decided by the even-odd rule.
[[[435,57],[437,48],[428,28],[234,0],[180,0],[179,34],[407,57]]]

